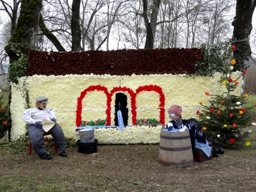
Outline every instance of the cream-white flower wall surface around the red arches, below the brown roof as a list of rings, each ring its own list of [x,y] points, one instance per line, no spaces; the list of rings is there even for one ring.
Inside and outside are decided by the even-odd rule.
[[[234,77],[240,75],[239,72]],[[77,137],[76,129],[77,103],[81,92],[90,86],[101,86],[110,93],[114,88],[128,88],[133,93],[141,86],[158,86],[164,95],[164,119],[167,123],[169,117],[167,110],[170,105],[182,106],[184,119],[197,118],[196,111],[201,110],[199,101],[208,103],[209,96],[204,93],[219,94],[226,92],[225,86],[220,82],[220,73],[214,77],[187,77],[185,75],[66,75],[66,76],[30,76],[19,79],[18,84],[12,85],[12,130],[11,138],[15,139],[26,133],[26,124],[22,119],[22,113],[26,110],[25,90],[28,91],[29,105],[34,107],[35,98],[45,95],[49,98],[48,107],[54,108],[57,123],[63,129],[65,136]],[[239,85],[243,85],[240,78]],[[236,89],[237,94],[242,93]],[[129,127],[123,131],[117,128],[95,129],[95,138],[98,143],[129,144],[129,143],[158,143],[161,125],[157,127],[132,126],[131,96],[127,91],[122,92],[127,96],[127,108],[129,109]],[[118,93],[115,92],[115,93]],[[115,93],[111,97],[111,125],[114,125]],[[156,91],[141,91],[136,94],[136,119],[160,118],[160,95]],[[90,121],[106,119],[108,99],[103,91],[89,91],[82,100],[81,119]]]

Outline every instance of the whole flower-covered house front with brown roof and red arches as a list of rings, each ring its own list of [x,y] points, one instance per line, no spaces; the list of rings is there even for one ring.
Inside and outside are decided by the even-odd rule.
[[[170,105],[181,105],[183,118],[196,118],[199,101],[208,102],[209,97],[202,96],[206,91],[225,90],[218,83],[220,73],[213,77],[184,74],[194,73],[193,65],[200,58],[198,49],[31,51],[27,76],[12,85],[11,137],[26,133],[22,113],[28,104],[34,106],[38,95],[45,95],[67,137],[77,138],[74,130],[82,122],[104,120],[106,126],[95,129],[98,143],[159,143]],[[237,90],[241,94],[242,89]],[[123,130],[117,125],[117,110],[124,117]],[[138,119],[157,119],[159,124],[137,125]]]

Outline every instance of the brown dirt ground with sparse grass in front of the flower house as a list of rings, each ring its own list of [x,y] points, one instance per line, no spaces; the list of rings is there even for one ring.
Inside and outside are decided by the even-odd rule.
[[[0,191],[256,191],[255,146],[188,167],[159,164],[158,144],[97,145],[93,154],[69,147],[68,157],[48,146],[52,160],[0,146]]]

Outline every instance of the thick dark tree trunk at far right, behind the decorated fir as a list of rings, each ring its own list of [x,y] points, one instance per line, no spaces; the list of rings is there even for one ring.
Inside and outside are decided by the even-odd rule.
[[[251,56],[249,36],[252,30],[252,14],[256,6],[256,0],[237,0],[236,16],[232,22],[234,26],[233,39],[237,49],[234,51],[237,65],[234,70],[243,71],[249,66],[245,65]]]

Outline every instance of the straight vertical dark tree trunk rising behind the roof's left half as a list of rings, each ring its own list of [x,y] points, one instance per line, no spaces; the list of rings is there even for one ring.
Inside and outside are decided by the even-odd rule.
[[[72,48],[71,51],[81,51],[81,28],[80,28],[80,4],[81,0],[73,0],[71,16],[71,34]]]

